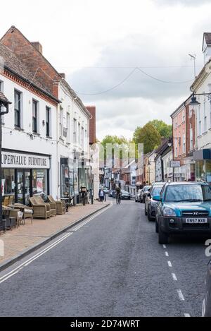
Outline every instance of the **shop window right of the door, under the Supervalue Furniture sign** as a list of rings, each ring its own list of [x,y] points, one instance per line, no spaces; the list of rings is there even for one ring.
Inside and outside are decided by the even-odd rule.
[[[46,169],[33,169],[32,170],[32,192],[33,195],[41,195],[44,200],[48,194],[47,183],[47,170]]]

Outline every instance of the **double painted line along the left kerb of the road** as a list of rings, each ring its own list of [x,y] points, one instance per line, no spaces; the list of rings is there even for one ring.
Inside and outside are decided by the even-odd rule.
[[[84,222],[83,224],[81,224],[79,227],[84,226],[85,224],[87,224],[88,222],[90,222],[91,219],[94,219],[95,217],[97,217],[98,215],[100,215],[102,212],[106,211],[109,207],[111,207],[111,205],[109,205],[108,207],[106,207],[105,209],[103,209],[101,212],[98,212],[97,214],[93,215],[91,218],[89,218],[86,222]],[[55,246],[57,246],[60,242],[62,242],[63,240],[67,239],[68,236],[72,236],[72,234],[73,234],[73,232],[65,234],[60,239],[58,239],[58,240],[54,241],[53,243],[51,243],[48,247],[44,248],[42,251],[40,251],[39,253],[37,253],[34,256],[32,256],[32,258],[29,258],[25,262],[23,262],[20,265],[18,265],[18,267],[15,267],[15,269],[13,269],[10,272],[8,272],[6,275],[0,277],[0,284],[2,282],[5,282],[6,279],[9,279],[10,277],[16,275],[18,272],[20,272],[20,270],[23,269],[23,267],[26,267],[27,265],[30,265],[30,263],[32,263],[34,260],[36,260],[37,258],[39,258],[44,253],[50,251],[52,248],[54,248]]]

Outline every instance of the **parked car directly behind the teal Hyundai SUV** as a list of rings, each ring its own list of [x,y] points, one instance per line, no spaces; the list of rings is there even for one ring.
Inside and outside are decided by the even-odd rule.
[[[157,206],[159,204],[158,199],[160,198],[160,192],[163,187],[163,183],[161,183],[159,186],[154,185],[151,188],[151,192],[148,193],[145,199],[145,215],[148,216],[149,221],[155,220],[155,212],[157,209]]]

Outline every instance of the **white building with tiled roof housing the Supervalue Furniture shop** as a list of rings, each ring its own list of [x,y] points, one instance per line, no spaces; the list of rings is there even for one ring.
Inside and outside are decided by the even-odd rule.
[[[18,203],[57,195],[56,111],[60,101],[0,43],[0,89],[12,102],[2,118],[2,193]],[[48,117],[48,123],[46,119]]]

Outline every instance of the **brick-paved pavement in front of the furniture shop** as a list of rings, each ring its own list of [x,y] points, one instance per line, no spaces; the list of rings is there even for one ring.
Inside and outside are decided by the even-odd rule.
[[[18,229],[6,231],[6,234],[2,234],[1,231],[0,240],[4,242],[4,256],[0,256],[0,270],[43,246],[106,205],[108,205],[106,202],[101,204],[94,201],[93,205],[70,207],[69,212],[64,215],[57,215],[49,219],[34,219],[31,223],[31,219],[27,218],[25,225],[21,225]]]

